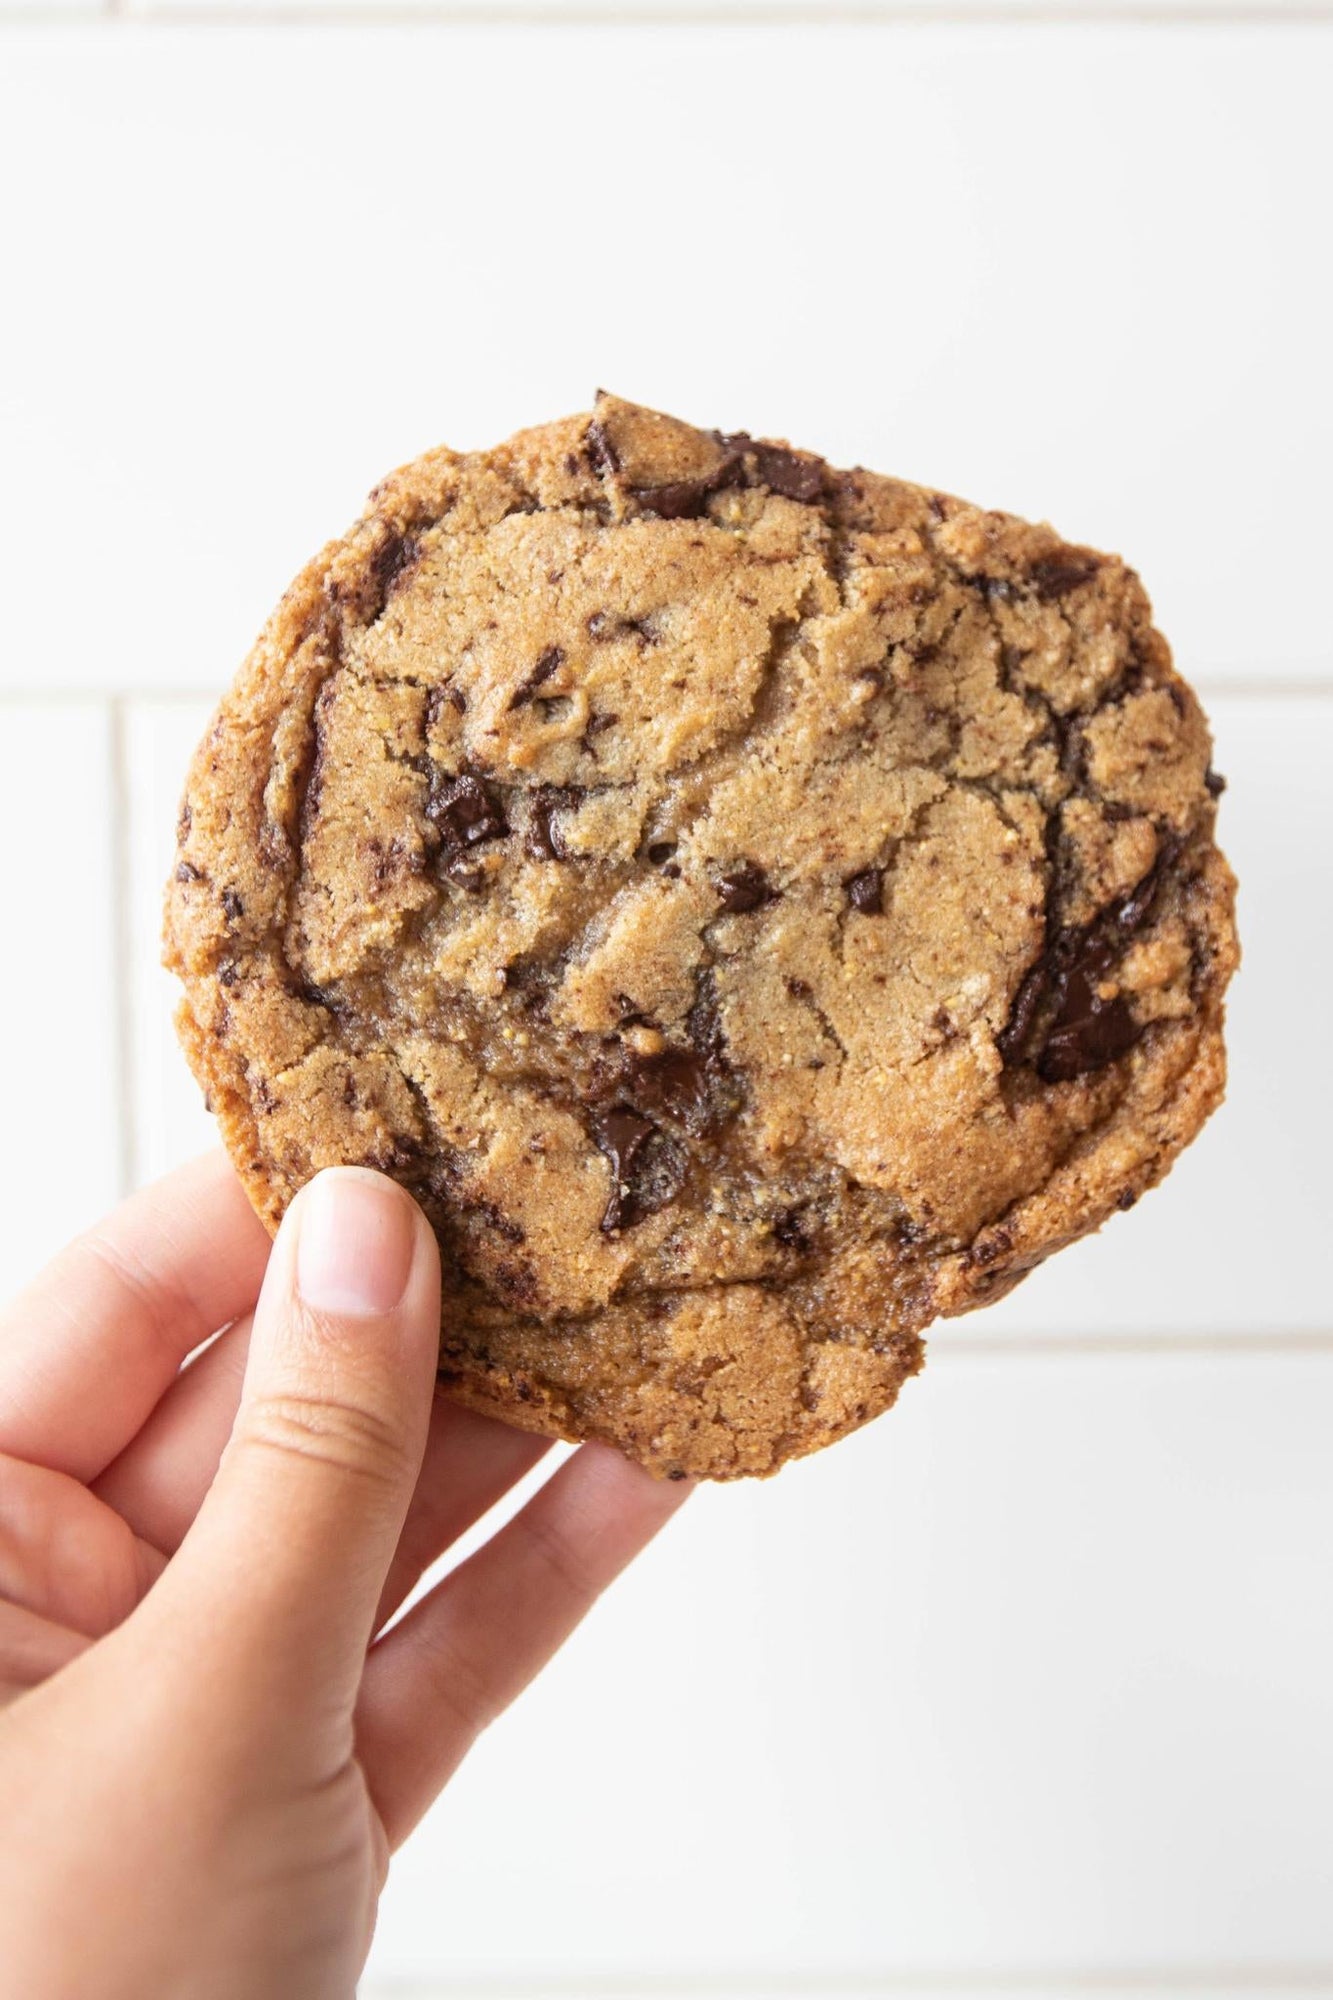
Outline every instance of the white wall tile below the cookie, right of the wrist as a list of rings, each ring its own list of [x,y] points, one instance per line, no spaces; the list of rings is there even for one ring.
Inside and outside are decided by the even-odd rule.
[[[1331,1414],[1333,1352],[945,1356],[703,1490],[398,1856],[370,1982],[1333,1990]]]

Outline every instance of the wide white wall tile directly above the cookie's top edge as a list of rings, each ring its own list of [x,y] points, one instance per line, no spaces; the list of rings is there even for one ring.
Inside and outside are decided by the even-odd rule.
[[[6,30],[0,682],[216,686],[386,466],[598,380],[1049,514],[1189,674],[1327,682],[1331,50]]]

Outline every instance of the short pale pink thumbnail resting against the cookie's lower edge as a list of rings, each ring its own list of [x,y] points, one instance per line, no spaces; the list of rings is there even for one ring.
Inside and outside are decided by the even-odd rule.
[[[332,1166],[300,1198],[296,1288],[316,1312],[392,1312],[406,1290],[416,1222],[382,1174]]]

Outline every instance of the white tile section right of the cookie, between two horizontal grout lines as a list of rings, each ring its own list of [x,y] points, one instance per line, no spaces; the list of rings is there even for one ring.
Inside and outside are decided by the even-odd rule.
[[[1241,972],[1227,1008],[1227,1102],[1165,1184],[1061,1250],[937,1342],[993,1334],[1333,1330],[1333,1072],[1309,1022],[1333,992],[1333,700],[1209,702],[1229,788],[1219,840],[1239,876]]]

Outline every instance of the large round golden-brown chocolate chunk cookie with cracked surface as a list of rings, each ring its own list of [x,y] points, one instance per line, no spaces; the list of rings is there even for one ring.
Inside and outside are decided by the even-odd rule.
[[[270,1228],[422,1202],[464,1402],[773,1472],[1223,1094],[1209,732],[1115,556],[614,396],[428,452],[198,748],[180,1036]]]

